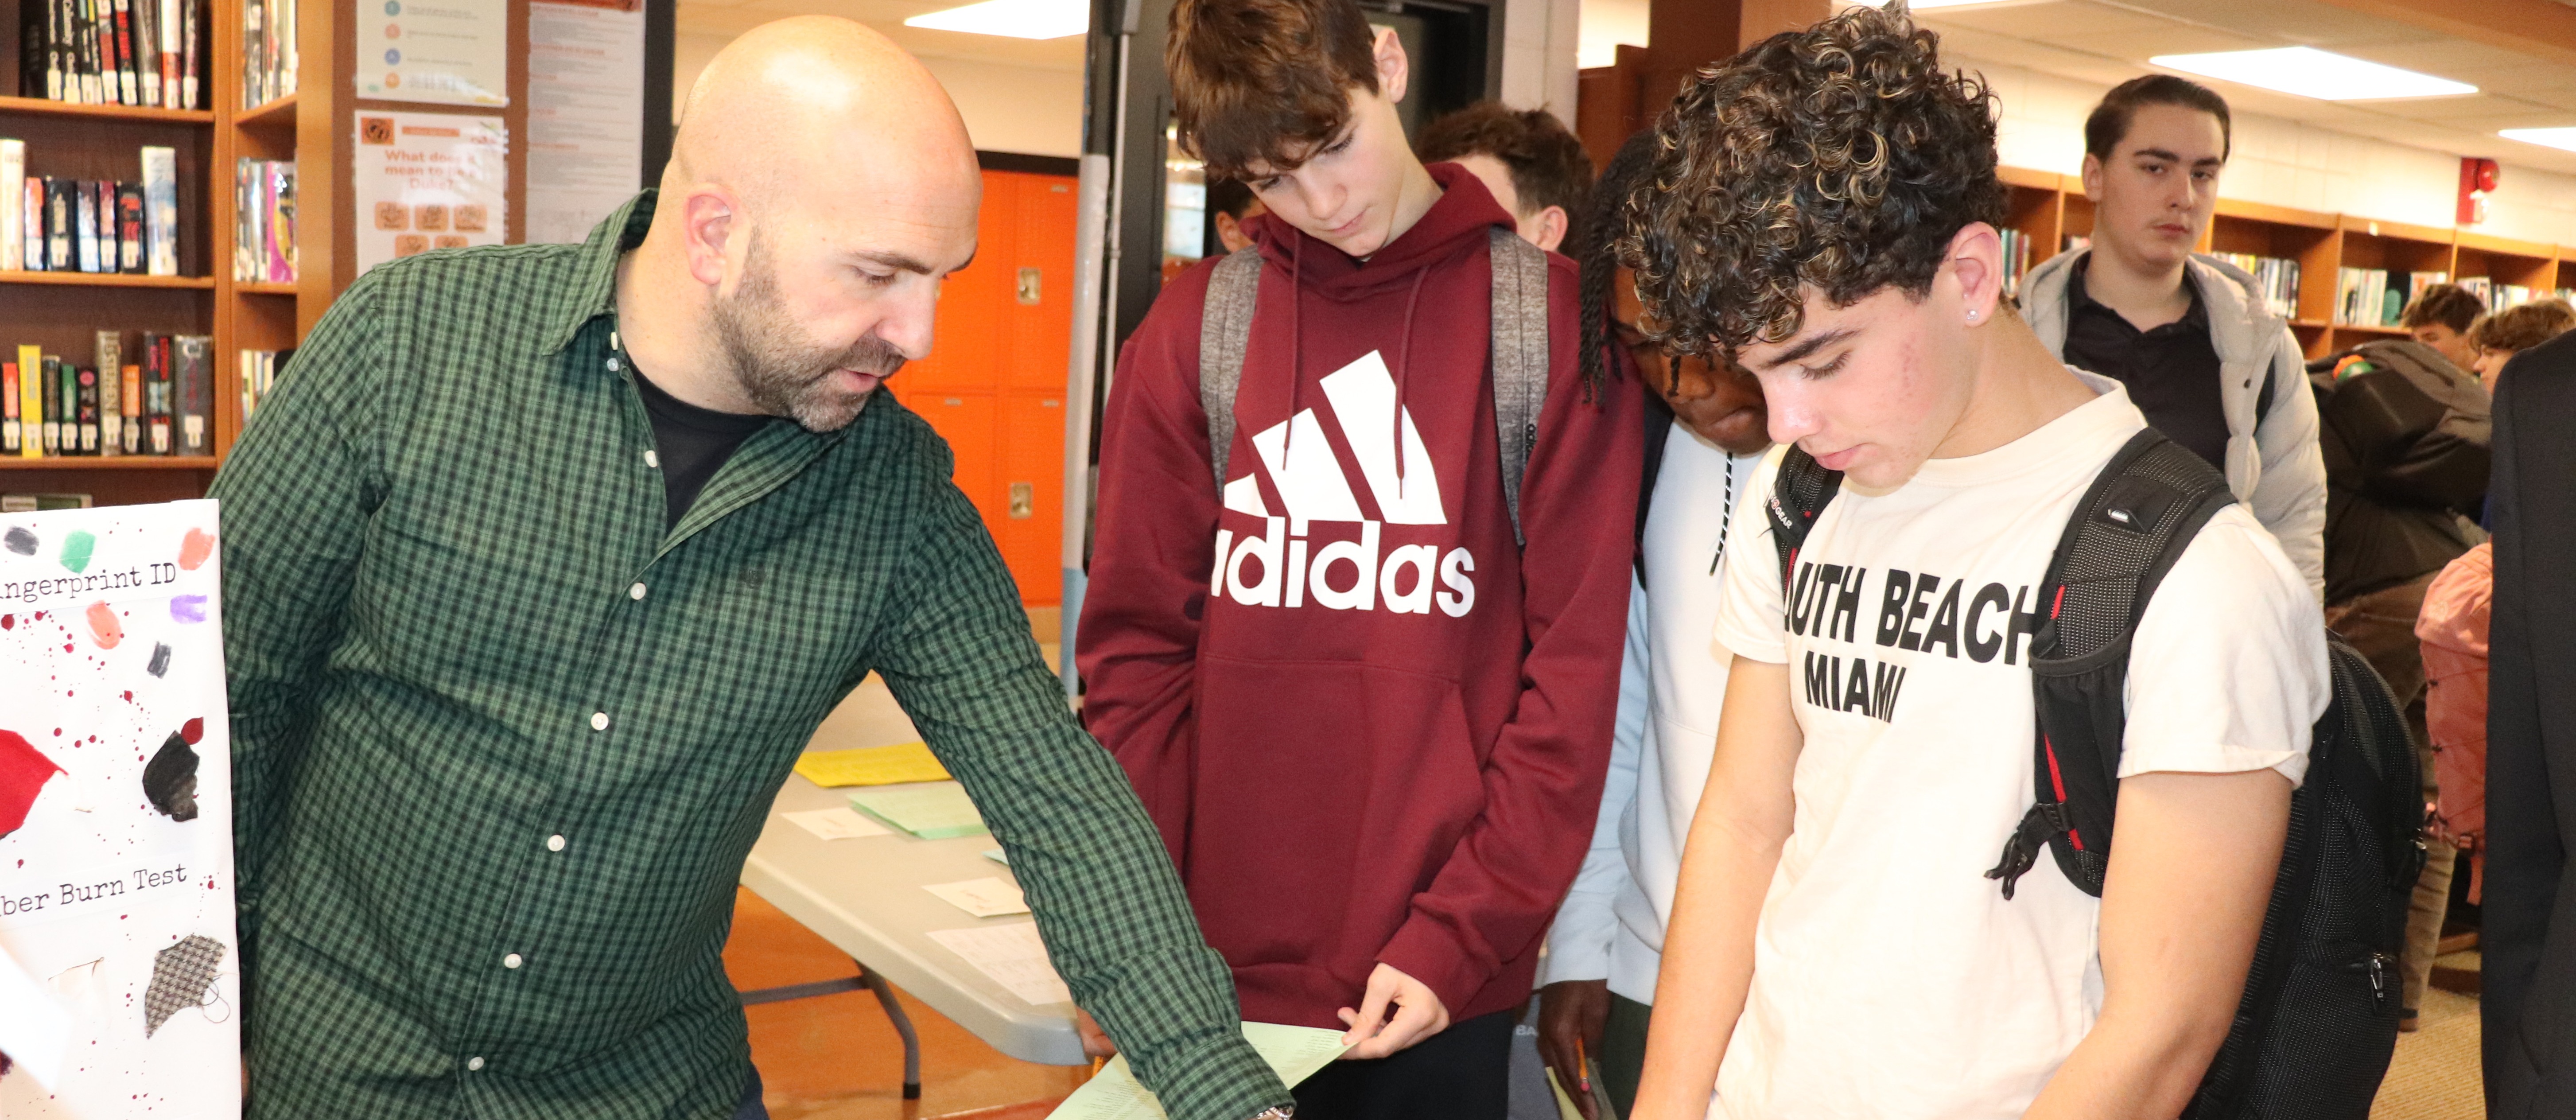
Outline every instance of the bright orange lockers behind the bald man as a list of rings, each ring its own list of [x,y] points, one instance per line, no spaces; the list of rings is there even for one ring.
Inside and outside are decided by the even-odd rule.
[[[1054,605],[1064,533],[1064,366],[1074,324],[1074,178],[984,173],[976,257],[940,286],[930,358],[886,389],[956,453],[1020,600]]]

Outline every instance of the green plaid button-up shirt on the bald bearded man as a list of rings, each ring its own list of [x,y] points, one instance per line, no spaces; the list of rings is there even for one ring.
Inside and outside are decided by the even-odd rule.
[[[732,1115],[734,881],[871,669],[1172,1115],[1285,1105],[927,422],[770,425],[665,530],[608,345],[652,206],[368,270],[214,481],[250,1115]]]

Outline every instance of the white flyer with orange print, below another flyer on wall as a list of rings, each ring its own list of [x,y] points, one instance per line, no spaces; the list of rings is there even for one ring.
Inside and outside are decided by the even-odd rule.
[[[358,270],[510,234],[510,129],[497,116],[358,111]]]

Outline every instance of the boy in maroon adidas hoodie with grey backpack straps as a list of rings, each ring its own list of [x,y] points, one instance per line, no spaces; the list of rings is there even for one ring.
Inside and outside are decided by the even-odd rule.
[[[1309,1120],[1502,1117],[1610,757],[1636,394],[1579,373],[1577,270],[1546,255],[1517,543],[1489,373],[1489,239],[1512,214],[1414,160],[1396,36],[1352,0],[1180,0],[1167,64],[1182,144],[1270,214],[1247,221],[1224,487],[1200,404],[1216,260],[1118,360],[1084,721],[1244,1017],[1358,1043],[1296,1089]]]

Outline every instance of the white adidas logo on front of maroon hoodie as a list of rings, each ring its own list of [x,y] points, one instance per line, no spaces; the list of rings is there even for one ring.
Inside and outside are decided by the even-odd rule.
[[[1396,378],[1376,350],[1319,381],[1332,420],[1360,463],[1360,481],[1378,518],[1360,515],[1358,492],[1342,461],[1324,440],[1314,409],[1298,409],[1285,422],[1252,435],[1260,469],[1270,474],[1285,515],[1273,515],[1252,471],[1226,481],[1226,510],[1262,518],[1262,536],[1236,538],[1216,530],[1216,569],[1208,595],[1224,595],[1247,608],[1376,610],[1427,615],[1437,608],[1463,618],[1476,608],[1476,556],[1466,548],[1440,551],[1435,543],[1383,546],[1386,525],[1448,525],[1440,507],[1440,471],[1432,466],[1414,415],[1396,407]],[[1404,440],[1401,453],[1396,440]],[[1358,523],[1358,541],[1332,541],[1309,556],[1311,523]]]

